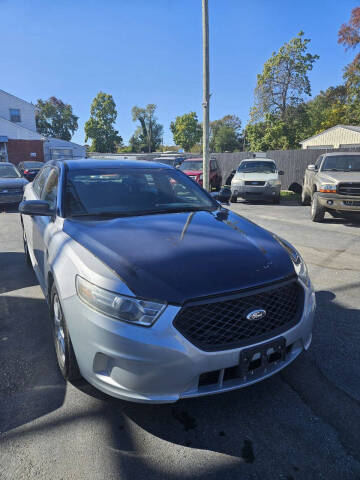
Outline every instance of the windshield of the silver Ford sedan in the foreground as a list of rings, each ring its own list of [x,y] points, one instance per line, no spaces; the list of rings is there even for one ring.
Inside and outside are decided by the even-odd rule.
[[[67,216],[132,216],[215,210],[192,180],[167,168],[94,168],[67,174]]]

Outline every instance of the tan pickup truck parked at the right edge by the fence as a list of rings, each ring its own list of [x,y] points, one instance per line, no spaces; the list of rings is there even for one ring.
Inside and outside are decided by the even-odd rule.
[[[305,171],[301,203],[311,203],[313,222],[322,222],[326,212],[333,216],[360,213],[360,154],[320,155]]]

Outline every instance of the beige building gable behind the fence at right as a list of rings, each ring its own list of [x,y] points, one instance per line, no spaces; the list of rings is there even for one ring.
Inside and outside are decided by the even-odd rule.
[[[318,135],[300,142],[303,149],[331,149],[360,147],[360,127],[352,125],[335,125]]]

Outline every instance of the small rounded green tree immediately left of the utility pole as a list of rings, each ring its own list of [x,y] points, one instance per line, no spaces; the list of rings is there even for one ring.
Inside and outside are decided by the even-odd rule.
[[[170,123],[170,130],[176,145],[180,145],[185,152],[189,152],[199,143],[202,135],[202,128],[195,112],[177,116],[175,122]]]

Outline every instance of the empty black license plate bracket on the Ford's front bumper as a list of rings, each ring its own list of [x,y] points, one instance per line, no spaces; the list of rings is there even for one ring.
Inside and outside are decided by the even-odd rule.
[[[264,374],[272,366],[284,361],[285,356],[286,342],[284,337],[242,350],[239,359],[240,375],[246,378]]]

